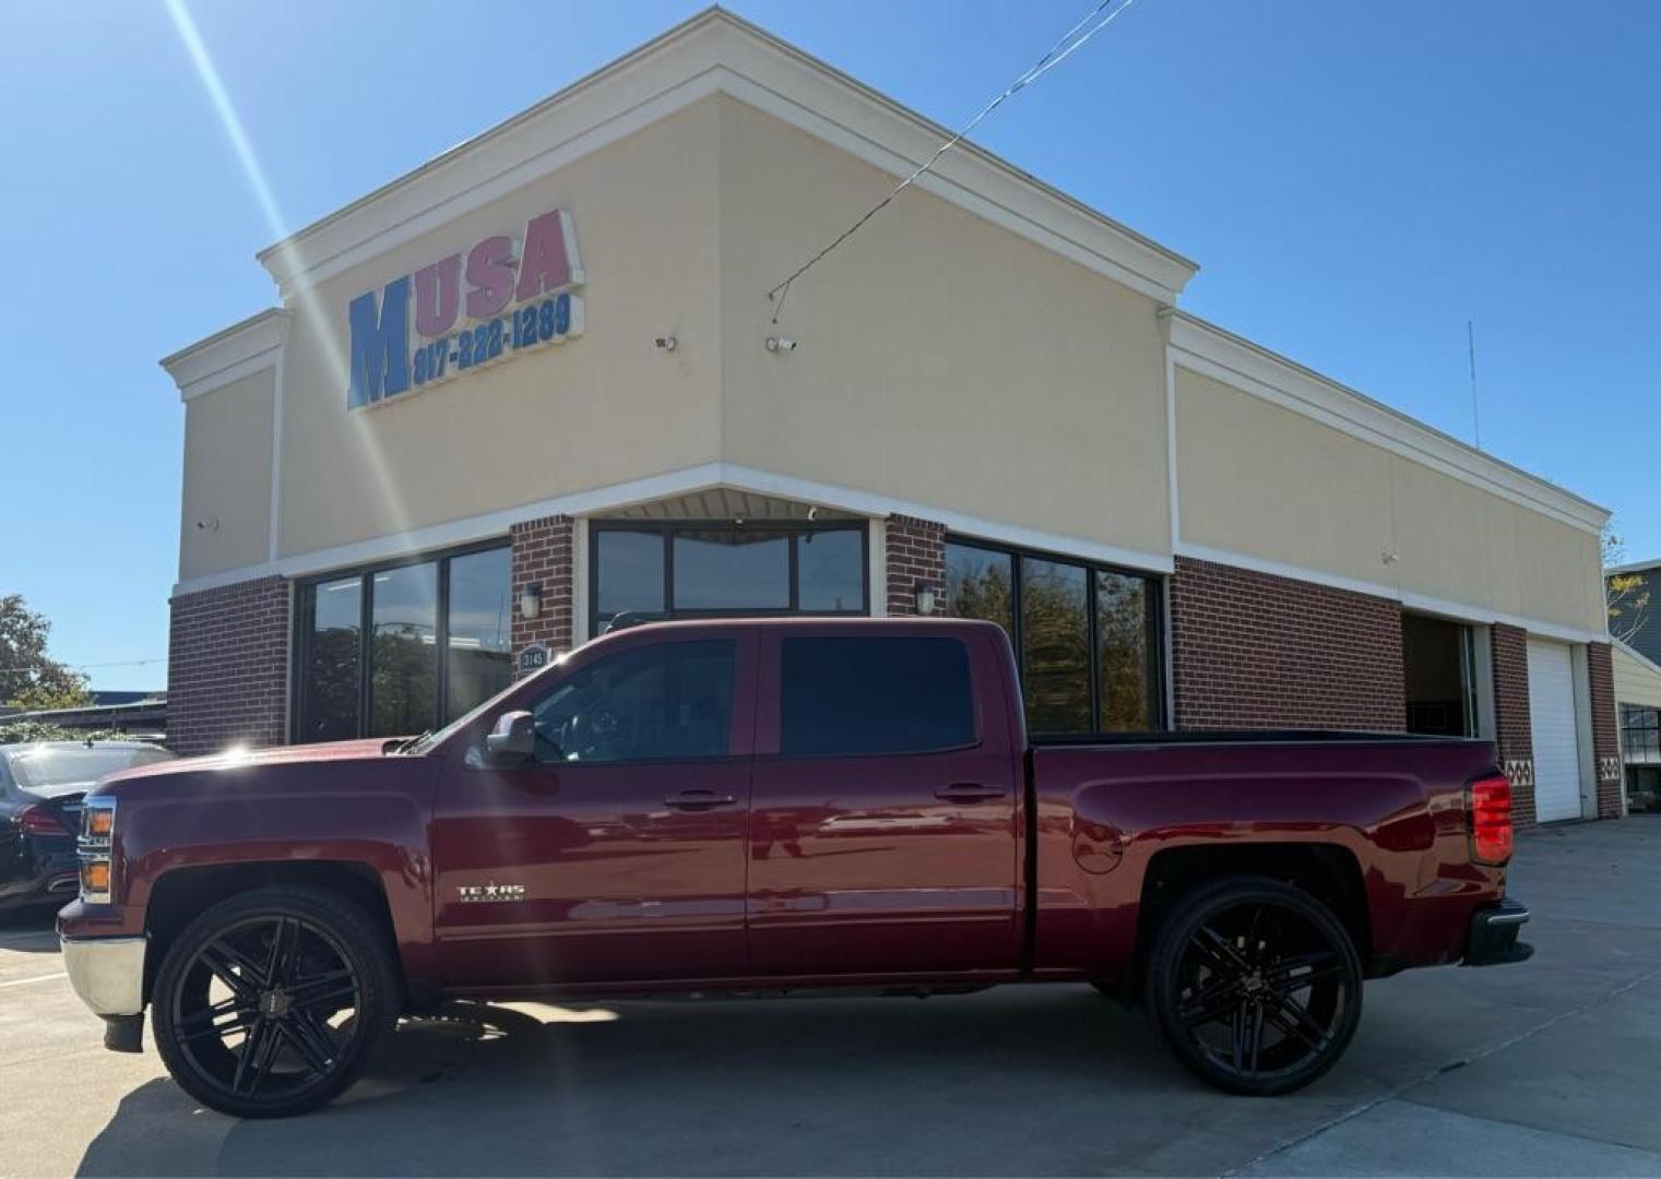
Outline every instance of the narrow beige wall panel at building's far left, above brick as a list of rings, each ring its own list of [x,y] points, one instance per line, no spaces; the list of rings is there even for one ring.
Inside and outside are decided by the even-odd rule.
[[[276,370],[266,369],[184,404],[181,580],[266,560],[274,397]]]

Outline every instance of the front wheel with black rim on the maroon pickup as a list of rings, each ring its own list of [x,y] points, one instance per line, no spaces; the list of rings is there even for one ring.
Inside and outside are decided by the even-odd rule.
[[[173,940],[151,1026],[173,1079],[204,1106],[286,1118],[359,1078],[400,993],[392,947],[360,905],[279,885],[214,905]]]

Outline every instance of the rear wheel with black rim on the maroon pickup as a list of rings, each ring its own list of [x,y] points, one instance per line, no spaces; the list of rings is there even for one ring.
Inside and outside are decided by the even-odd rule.
[[[1184,897],[1148,960],[1149,1015],[1178,1059],[1227,1093],[1319,1078],[1349,1048],[1360,995],[1360,958],[1332,910],[1264,877]]]

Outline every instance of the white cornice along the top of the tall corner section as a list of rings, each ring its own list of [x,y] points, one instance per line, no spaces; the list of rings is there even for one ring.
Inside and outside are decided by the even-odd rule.
[[[721,8],[259,252],[287,299],[711,93],[900,176],[952,131]],[[1198,266],[960,143],[919,181],[937,196],[1171,304]]]

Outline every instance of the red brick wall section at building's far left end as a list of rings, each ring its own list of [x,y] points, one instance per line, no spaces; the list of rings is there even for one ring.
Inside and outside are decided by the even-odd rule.
[[[284,742],[291,598],[287,581],[261,578],[171,601],[168,749]]]

